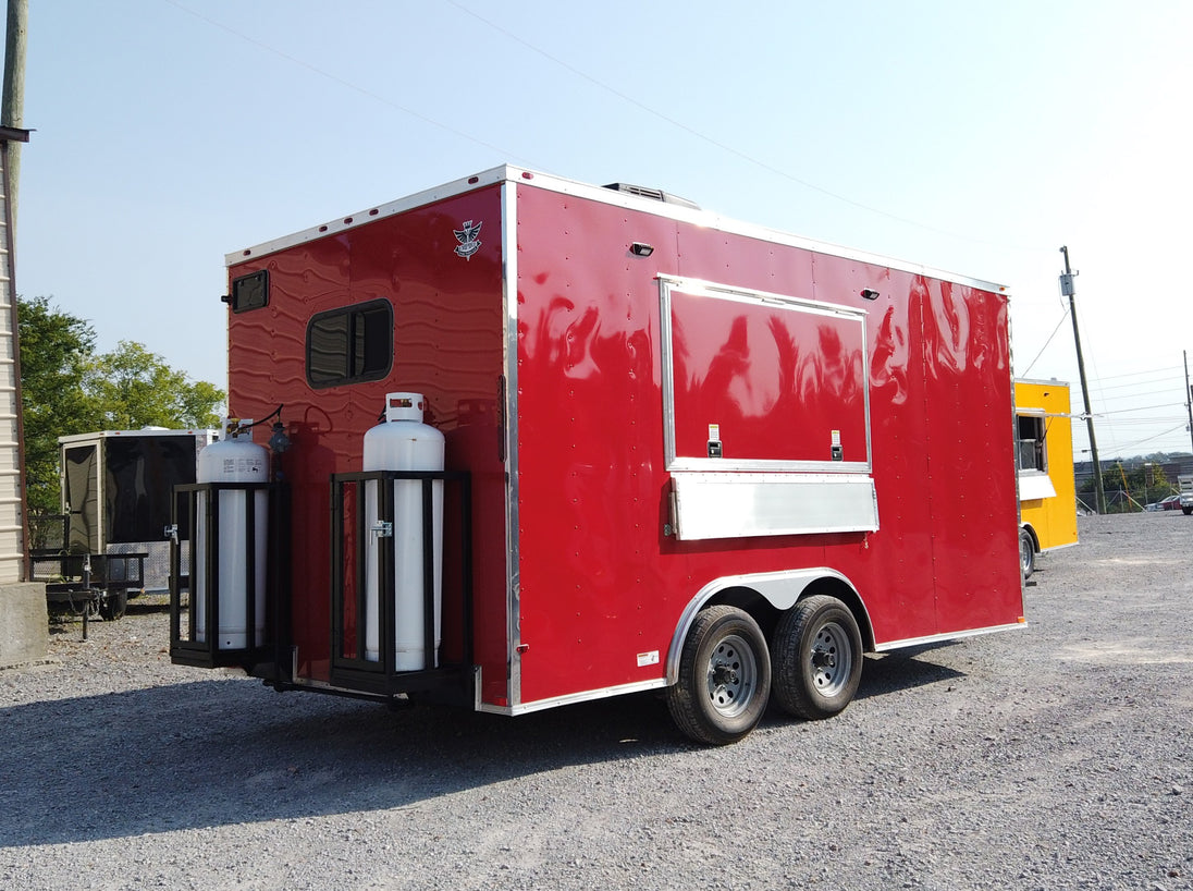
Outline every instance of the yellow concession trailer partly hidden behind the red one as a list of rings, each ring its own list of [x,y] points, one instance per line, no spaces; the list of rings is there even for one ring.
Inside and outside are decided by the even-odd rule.
[[[1019,555],[1024,578],[1036,554],[1077,543],[1069,385],[1015,381],[1019,463]]]

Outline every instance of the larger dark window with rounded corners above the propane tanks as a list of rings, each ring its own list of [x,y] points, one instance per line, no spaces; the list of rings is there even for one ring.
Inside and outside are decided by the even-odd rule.
[[[315,389],[378,381],[394,364],[394,307],[373,300],[320,313],[307,327],[307,382]]]

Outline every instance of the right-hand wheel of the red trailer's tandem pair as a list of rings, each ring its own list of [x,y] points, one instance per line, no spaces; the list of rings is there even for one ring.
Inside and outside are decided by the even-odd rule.
[[[814,595],[779,617],[771,641],[771,693],[787,714],[808,720],[845,711],[861,682],[861,632],[836,597]]]

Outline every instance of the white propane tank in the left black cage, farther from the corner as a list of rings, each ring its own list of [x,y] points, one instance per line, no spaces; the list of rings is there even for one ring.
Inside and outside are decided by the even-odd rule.
[[[205,446],[196,463],[194,478],[198,483],[268,483],[270,457],[262,446],[253,443],[249,430],[252,420],[224,419],[223,438]],[[268,534],[270,497],[264,491],[246,492],[229,490],[220,492],[218,528],[220,541],[209,541],[206,528],[206,492],[196,497],[194,551],[191,555],[191,601],[194,604],[196,638],[206,643],[206,594],[208,548],[218,547],[220,573],[220,627],[216,629],[217,650],[245,650],[248,647],[246,606],[248,601],[248,498],[253,497],[254,555],[253,579],[255,586],[256,617],[254,644],[265,643],[265,561]]]

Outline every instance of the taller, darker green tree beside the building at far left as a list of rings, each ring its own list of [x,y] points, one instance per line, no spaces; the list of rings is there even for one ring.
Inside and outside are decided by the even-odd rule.
[[[100,422],[82,387],[95,332],[48,297],[20,300],[18,317],[25,494],[31,512],[57,514],[58,437],[95,430]]]

